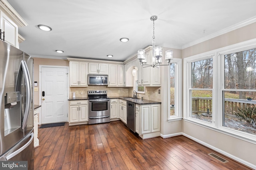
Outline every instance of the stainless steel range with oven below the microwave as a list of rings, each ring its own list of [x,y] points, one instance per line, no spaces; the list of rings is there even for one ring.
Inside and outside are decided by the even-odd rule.
[[[88,90],[88,124],[110,122],[110,98],[106,90]]]

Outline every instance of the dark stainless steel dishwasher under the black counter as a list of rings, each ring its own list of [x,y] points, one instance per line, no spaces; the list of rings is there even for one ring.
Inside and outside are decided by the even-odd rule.
[[[127,126],[135,132],[135,107],[134,103],[127,101]]]

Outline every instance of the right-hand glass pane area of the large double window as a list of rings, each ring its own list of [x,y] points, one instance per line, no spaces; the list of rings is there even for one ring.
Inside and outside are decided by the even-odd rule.
[[[256,49],[222,55],[222,126],[256,135]]]

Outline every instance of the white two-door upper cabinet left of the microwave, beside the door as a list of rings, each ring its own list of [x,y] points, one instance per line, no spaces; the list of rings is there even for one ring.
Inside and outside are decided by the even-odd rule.
[[[80,61],[69,62],[70,86],[87,86],[88,63]]]

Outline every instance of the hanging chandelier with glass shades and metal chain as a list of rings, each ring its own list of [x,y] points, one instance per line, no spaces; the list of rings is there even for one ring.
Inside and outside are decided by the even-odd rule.
[[[138,60],[140,61],[140,64],[143,67],[158,67],[158,66],[168,66],[170,65],[170,61],[172,60],[172,50],[168,50],[165,52],[165,60],[168,61],[168,64],[161,64],[162,63],[162,47],[157,46],[155,47],[156,40],[155,40],[155,22],[157,20],[157,16],[150,17],[150,20],[153,21],[153,39],[152,39],[152,46],[153,46],[153,58],[152,58],[152,64],[146,64],[147,63],[147,55],[145,55],[145,50],[140,49],[138,50]]]

